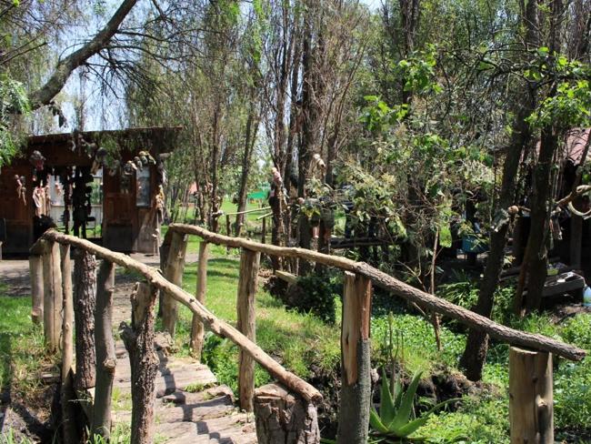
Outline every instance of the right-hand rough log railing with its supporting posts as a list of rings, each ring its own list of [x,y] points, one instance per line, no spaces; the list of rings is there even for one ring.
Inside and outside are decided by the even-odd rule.
[[[276,257],[297,257],[329,267],[337,267],[345,271],[346,285],[341,330],[343,383],[339,408],[338,443],[362,444],[367,439],[371,404],[368,339],[370,337],[372,284],[385,288],[394,295],[413,302],[421,308],[456,319],[468,327],[486,332],[491,338],[510,344],[512,346],[509,356],[510,378],[512,379],[510,381],[511,441],[520,443],[534,442],[533,437],[542,437],[541,440],[536,442],[554,442],[551,389],[552,366],[547,362],[551,362],[552,354],[570,360],[580,360],[585,357],[585,350],[542,335],[507,328],[473,311],[456,306],[445,299],[437,298],[418,288],[411,287],[364,262],[356,262],[346,257],[326,255],[303,248],[277,247],[240,237],[223,236],[208,231],[203,227],[185,224],[171,225],[168,228],[166,234],[168,240],[165,240],[165,243],[170,242],[170,237],[186,235],[201,237],[203,239],[202,245],[212,243],[242,250],[237,307],[238,328],[246,336],[250,335],[252,338],[254,338],[255,325],[252,285],[256,278],[254,269],[257,267],[258,254],[263,253]],[[244,282],[245,277],[248,277],[248,282]],[[522,348],[525,348],[526,352]],[[526,358],[523,358],[524,353]],[[241,359],[239,374],[241,403],[243,407],[248,409],[252,405],[251,393],[255,384],[250,361],[246,359],[243,362]],[[242,388],[245,385],[249,389],[243,391]],[[255,411],[257,413],[260,410],[258,409],[260,402],[268,402],[275,408],[279,405],[276,399],[269,401],[269,397],[265,396],[264,389],[259,389],[255,399]],[[524,411],[529,413],[525,414]],[[536,420],[531,415],[538,415],[543,420]],[[261,414],[260,416],[264,415]],[[259,431],[259,428],[266,431],[283,428],[283,431],[285,431],[285,424],[277,426],[272,422],[273,420],[259,420],[257,416],[257,431]],[[264,435],[265,430],[259,435]],[[270,439],[264,442],[278,442],[276,439],[280,438],[275,437],[275,441]]]

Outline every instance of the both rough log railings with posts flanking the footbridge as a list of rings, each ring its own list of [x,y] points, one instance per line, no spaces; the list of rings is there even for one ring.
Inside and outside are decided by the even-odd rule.
[[[185,266],[187,237],[189,235],[195,235],[202,239],[199,248],[197,269],[199,284],[195,296],[190,295],[180,288]],[[514,346],[511,348],[510,354],[512,442],[553,442],[552,354],[571,360],[580,360],[585,357],[585,351],[582,349],[572,347],[552,338],[506,328],[472,311],[451,304],[444,299],[436,298],[417,288],[410,287],[404,282],[365,263],[355,262],[345,257],[325,255],[302,248],[276,247],[244,238],[227,237],[212,233],[201,227],[173,224],[169,227],[163,246],[161,247],[161,267],[164,270],[164,276],[154,268],[147,267],[130,257],[114,253],[103,247],[97,247],[90,242],[76,237],[59,234],[56,231],[45,233],[42,240],[38,242],[38,245],[32,248],[32,254],[34,256],[42,256],[41,261],[35,258],[31,260],[34,304],[38,304],[40,300],[39,292],[41,288],[38,279],[35,280],[35,276],[37,275],[33,271],[35,267],[39,267],[39,262],[42,262],[44,269],[43,292],[45,293],[45,298],[43,299],[45,299],[45,310],[42,317],[45,325],[47,348],[54,351],[58,348],[58,338],[60,331],[62,331],[65,358],[69,353],[66,351],[66,348],[72,347],[71,339],[69,342],[66,341],[67,336],[71,338],[71,327],[69,330],[65,328],[68,320],[65,320],[63,323],[61,316],[56,314],[55,310],[61,310],[64,307],[64,313],[66,311],[66,304],[61,299],[62,287],[64,288],[64,301],[71,297],[66,294],[66,285],[63,285],[61,280],[62,276],[59,270],[60,268],[66,268],[57,265],[60,264],[59,248],[56,247],[55,243],[81,248],[104,259],[101,272],[98,274],[96,304],[98,307],[98,298],[104,300],[101,302],[101,304],[104,304],[101,307],[105,307],[106,318],[108,318],[108,307],[110,304],[109,288],[113,286],[112,267],[113,264],[116,264],[140,273],[147,280],[147,287],[152,289],[146,290],[147,294],[155,295],[156,289],[163,292],[163,325],[171,335],[175,333],[177,303],[182,303],[193,312],[194,318],[190,345],[195,356],[199,357],[201,354],[204,328],[208,328],[215,334],[232,340],[240,349],[238,372],[240,404],[243,409],[249,411],[255,409],[257,432],[260,432],[258,433],[259,442],[278,442],[278,439],[281,442],[319,442],[315,406],[322,399],[322,395],[317,389],[303,379],[285,370],[285,368],[275,362],[273,358],[266,355],[255,344],[255,290],[261,253],[277,257],[298,257],[304,260],[315,261],[326,266],[338,267],[345,273],[341,333],[342,389],[337,437],[337,442],[339,443],[365,444],[367,439],[371,404],[369,340],[373,285],[386,288],[396,296],[414,302],[422,308],[428,308],[441,315],[454,318],[471,328],[478,328],[486,332],[492,338]],[[205,279],[208,244],[210,243],[225,247],[240,248],[241,250],[236,304],[238,322],[236,328],[228,325],[223,320],[215,318],[205,308]],[[67,264],[68,260],[67,258],[64,259],[64,256],[62,257],[63,263]],[[47,269],[46,274],[45,269]],[[49,303],[47,301],[48,298],[51,298],[53,301]],[[152,298],[155,298],[155,296]],[[38,306],[34,307],[33,311],[37,317],[40,316],[40,308]],[[105,331],[96,331],[96,340],[105,340],[106,342],[112,343],[113,339],[109,338]],[[107,363],[105,368],[103,368],[103,372],[107,375],[110,371],[108,367],[110,351],[109,347],[107,347],[105,356],[101,357],[105,358],[102,361],[99,361],[98,357],[96,357],[97,362]],[[285,389],[295,394],[296,399],[302,401],[300,403],[300,409],[303,410],[300,411],[305,412],[305,418],[296,425],[298,429],[290,435],[292,437],[290,439],[285,440],[277,435],[266,433],[269,430],[275,430],[275,433],[284,433],[283,438],[285,438],[290,433],[287,428],[294,427],[294,425],[286,425],[285,414],[279,413],[280,410],[285,408],[285,402],[282,400],[269,401],[269,397],[266,396],[265,392],[255,393],[255,362],[265,368],[279,383],[285,386]],[[105,396],[110,393],[104,387],[101,387],[99,390],[99,382],[102,385],[108,386],[109,380],[99,381],[97,378],[95,404],[99,401],[98,393],[103,393],[101,390],[104,390],[104,396],[101,398],[102,402],[105,402]],[[112,383],[112,378],[110,383]],[[142,410],[143,407],[136,406],[135,399],[133,400],[134,411],[136,409]],[[275,402],[275,404],[269,407],[269,402]],[[263,404],[265,406],[261,407]],[[265,412],[273,411],[275,414],[271,416],[267,414],[259,415],[258,413],[262,409],[265,409]],[[93,430],[96,433],[105,434],[109,425],[108,421],[104,417],[99,419],[103,420],[103,422],[100,425],[94,425]],[[263,424],[259,428],[259,422],[264,420],[267,422],[274,421],[275,424],[266,424],[267,427]],[[261,430],[265,432],[261,432]],[[136,440],[135,442],[146,441]]]

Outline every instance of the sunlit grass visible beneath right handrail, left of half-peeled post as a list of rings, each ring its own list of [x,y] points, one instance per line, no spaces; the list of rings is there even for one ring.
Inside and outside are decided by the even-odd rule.
[[[235,325],[236,290],[239,260],[234,254],[225,255],[225,248],[213,247],[207,267],[205,306],[215,316]],[[187,264],[183,288],[195,292],[196,264]],[[176,345],[180,353],[188,354],[192,313],[179,308]],[[335,368],[340,359],[339,329],[312,315],[286,311],[283,305],[259,288],[256,294],[256,343],[285,368],[306,378],[312,367]],[[204,360],[224,384],[236,389],[237,348],[229,341],[207,335]],[[256,369],[258,385],[270,379],[266,372]]]

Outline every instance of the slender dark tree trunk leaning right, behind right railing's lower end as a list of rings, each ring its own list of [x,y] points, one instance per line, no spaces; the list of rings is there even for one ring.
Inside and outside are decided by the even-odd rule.
[[[539,24],[537,2],[530,0],[526,8],[526,45],[536,48],[538,45]],[[532,138],[531,128],[526,122],[536,106],[536,92],[524,86],[523,93],[516,96],[517,113],[513,124],[511,142],[507,147],[505,163],[503,164],[503,179],[496,206],[496,216],[504,218],[506,209],[510,207],[516,197],[516,176],[522,153],[529,146]],[[507,241],[508,220],[495,227],[490,233],[490,250],[486,260],[484,278],[478,292],[476,307],[477,314],[490,318],[493,310],[496,287],[498,286],[505,247]],[[488,349],[488,335],[482,330],[471,328],[466,341],[466,349],[460,359],[460,366],[466,370],[466,378],[479,380],[482,378],[482,368],[486,360]]]

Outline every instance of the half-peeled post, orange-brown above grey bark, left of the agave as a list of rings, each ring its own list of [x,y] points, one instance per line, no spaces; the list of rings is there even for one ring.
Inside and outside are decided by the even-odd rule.
[[[336,442],[365,444],[371,404],[371,280],[345,273],[341,329],[341,400]]]

